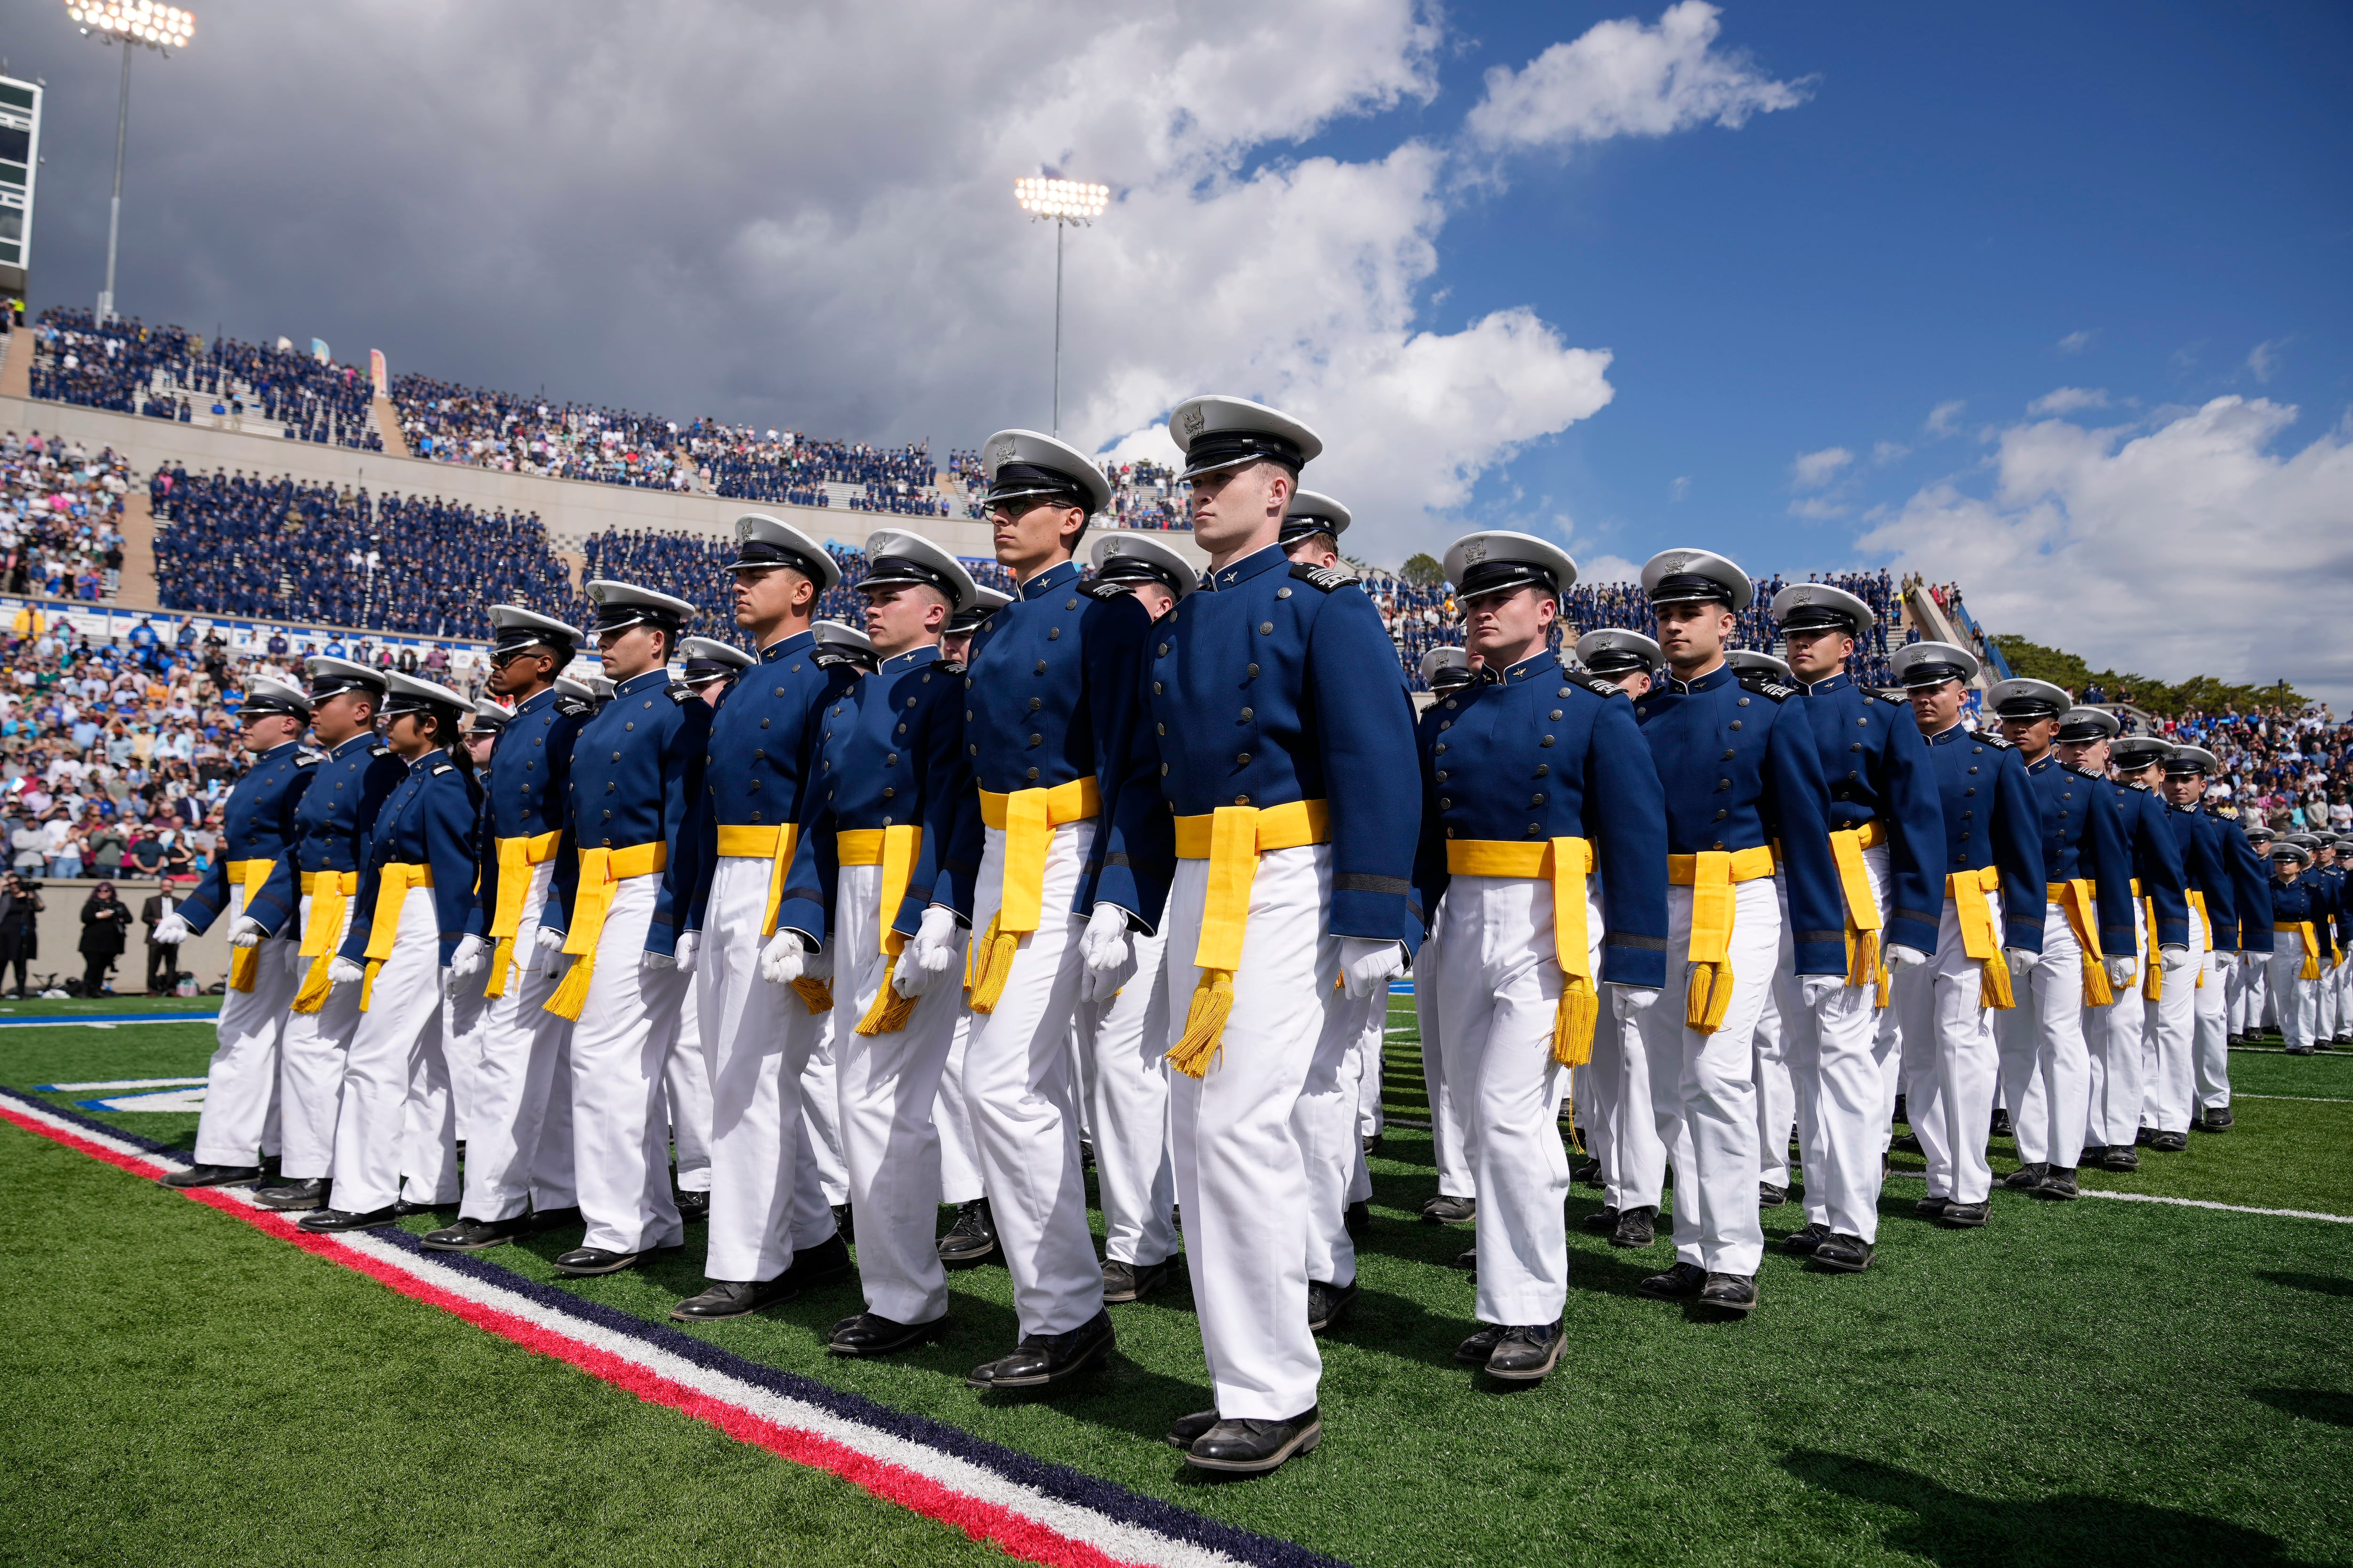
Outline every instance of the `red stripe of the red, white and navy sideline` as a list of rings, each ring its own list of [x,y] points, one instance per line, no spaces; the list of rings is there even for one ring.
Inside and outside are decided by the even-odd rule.
[[[136,1154],[118,1154],[115,1150],[108,1150],[87,1138],[78,1138],[45,1121],[35,1121],[33,1117],[24,1117],[14,1110],[7,1110],[5,1105],[0,1105],[0,1117],[21,1126],[28,1133],[47,1138],[49,1143],[59,1143],[80,1154],[89,1154],[92,1159],[104,1159],[106,1164],[120,1171],[129,1171],[148,1180],[155,1180],[158,1175],[165,1173],[165,1166],[160,1161],[139,1159]],[[449,1291],[428,1286],[426,1281],[402,1274],[400,1269],[384,1265],[374,1258],[367,1258],[365,1253],[336,1246],[329,1237],[311,1234],[299,1225],[294,1225],[292,1220],[285,1220],[266,1208],[252,1208],[247,1204],[240,1204],[219,1187],[191,1187],[184,1190],[181,1197],[195,1199],[209,1208],[245,1220],[247,1225],[268,1237],[278,1237],[280,1241],[292,1241],[306,1253],[327,1258],[329,1262],[339,1262],[358,1274],[367,1274],[381,1286],[391,1286],[393,1291],[412,1300],[440,1307],[442,1312],[449,1312],[452,1316],[459,1316],[473,1324],[475,1328],[485,1328],[499,1335],[501,1340],[511,1340],[525,1349],[576,1366],[591,1378],[609,1382],[619,1389],[628,1389],[645,1403],[668,1406],[704,1425],[718,1427],[739,1443],[753,1443],[758,1448],[767,1448],[776,1458],[791,1460],[793,1465],[824,1469],[866,1493],[873,1493],[875,1497],[882,1497],[885,1502],[896,1502],[899,1507],[913,1509],[927,1519],[955,1526],[972,1540],[993,1542],[1007,1556],[1016,1556],[1026,1563],[1047,1563],[1049,1568],[1132,1568],[1127,1559],[1106,1556],[1096,1547],[1089,1547],[1082,1540],[1071,1540],[1059,1530],[1049,1530],[1047,1526],[1024,1514],[1016,1514],[1014,1509],[1007,1509],[995,1502],[981,1502],[979,1497],[967,1497],[901,1465],[885,1465],[880,1460],[871,1460],[864,1453],[856,1453],[854,1448],[835,1443],[833,1439],[819,1436],[814,1432],[802,1432],[798,1427],[784,1427],[772,1420],[762,1420],[758,1415],[727,1406],[718,1399],[711,1399],[708,1394],[701,1394],[680,1382],[661,1378],[659,1373],[649,1373],[642,1366],[633,1366],[621,1356],[595,1349],[591,1345],[581,1345],[579,1340],[569,1340],[551,1328],[527,1324],[525,1319],[499,1312],[494,1307],[471,1302],[464,1295],[452,1295]]]

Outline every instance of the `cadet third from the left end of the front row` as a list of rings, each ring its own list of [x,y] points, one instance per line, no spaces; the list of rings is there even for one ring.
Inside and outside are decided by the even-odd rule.
[[[384,738],[407,764],[407,778],[367,835],[351,931],[327,961],[334,987],[358,992],[360,1027],[344,1058],[334,1206],[304,1215],[308,1232],[391,1225],[402,1213],[459,1197],[454,1128],[445,1114],[442,1006],[478,875],[482,799],[473,773],[449,757],[464,745],[459,724],[471,703],[398,670],[384,679]],[[412,1098],[433,1112],[431,1140],[407,1138]],[[402,1171],[409,1161],[419,1164]]]

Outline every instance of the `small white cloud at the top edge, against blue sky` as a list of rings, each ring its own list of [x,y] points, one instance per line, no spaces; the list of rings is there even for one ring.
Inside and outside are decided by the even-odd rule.
[[[1609,136],[1666,136],[1694,125],[1741,127],[1795,108],[1812,82],[1777,82],[1715,47],[1718,9],[1671,5],[1657,26],[1602,21],[1525,68],[1494,66],[1464,129],[1489,148],[1572,148]]]

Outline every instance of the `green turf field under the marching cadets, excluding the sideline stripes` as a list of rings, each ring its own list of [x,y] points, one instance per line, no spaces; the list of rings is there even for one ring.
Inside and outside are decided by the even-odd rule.
[[[1393,1025],[1388,1105],[1421,1117],[1409,1009]],[[193,1077],[209,1048],[200,1025],[0,1027],[0,1084]],[[2353,1215],[2353,1058],[2231,1063],[2238,1128],[2087,1185]],[[181,1145],[195,1124],[111,1119]],[[0,1561],[993,1554],[7,1126],[0,1182]],[[1325,1446],[1264,1481],[1193,1481],[1158,1441],[1205,1403],[1184,1291],[1115,1309],[1122,1354],[1052,1406],[962,1385],[1014,1338],[1000,1267],[955,1274],[955,1331],[892,1363],[821,1354],[854,1286],[706,1333],[1358,1563],[2353,1561],[2353,1225],[1998,1192],[1993,1225],[1946,1232],[1897,1180],[1868,1274],[1767,1255],[1746,1324],[1638,1300],[1664,1244],[1572,1229],[1560,1373],[1497,1392],[1449,1359],[1468,1232],[1417,1220],[1426,1133],[1391,1128],[1374,1182]],[[1595,1206],[1574,1190],[1572,1220]],[[569,1244],[487,1258],[548,1281]],[[699,1246],[567,1288],[661,1316]]]

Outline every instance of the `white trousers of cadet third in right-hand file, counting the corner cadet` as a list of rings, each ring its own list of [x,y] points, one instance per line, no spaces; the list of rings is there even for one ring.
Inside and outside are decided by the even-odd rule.
[[[1666,992],[1640,1013],[1652,1112],[1675,1161],[1675,1260],[1711,1274],[1755,1274],[1765,1255],[1758,1218],[1755,1027],[1781,950],[1772,879],[1734,889],[1732,1001],[1713,1034],[1682,1023],[1692,950],[1692,889],[1666,889]],[[1678,1145],[1675,1140],[1687,1143]]]

